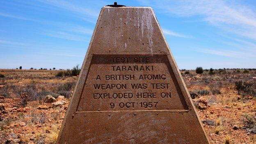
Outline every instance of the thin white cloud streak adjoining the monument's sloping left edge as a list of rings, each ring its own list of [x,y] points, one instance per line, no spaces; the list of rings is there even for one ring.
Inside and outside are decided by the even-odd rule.
[[[67,39],[67,40],[71,40],[71,41],[86,41],[85,37],[81,37],[75,34],[69,34],[66,32],[48,32],[48,33],[44,33],[45,35],[49,36],[49,37],[55,37],[55,38],[59,38],[59,39]]]

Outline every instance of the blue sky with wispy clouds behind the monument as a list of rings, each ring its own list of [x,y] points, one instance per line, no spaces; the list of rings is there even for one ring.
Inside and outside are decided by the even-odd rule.
[[[152,7],[179,69],[256,68],[255,0],[120,0]],[[82,65],[112,0],[0,0],[0,69]]]

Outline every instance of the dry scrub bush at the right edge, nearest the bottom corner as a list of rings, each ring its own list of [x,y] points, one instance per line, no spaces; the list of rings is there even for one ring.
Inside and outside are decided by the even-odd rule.
[[[246,130],[248,130],[250,133],[256,134],[256,114],[243,114],[242,123],[244,124]]]

